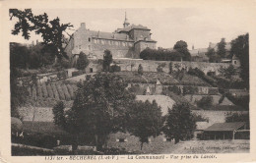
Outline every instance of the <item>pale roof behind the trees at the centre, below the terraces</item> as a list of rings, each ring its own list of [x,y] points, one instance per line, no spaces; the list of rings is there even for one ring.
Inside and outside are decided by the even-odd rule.
[[[172,100],[169,96],[166,95],[136,95],[136,100],[140,100],[143,102],[145,102],[146,100],[149,100],[150,102],[156,100],[156,102],[161,108],[163,116],[168,113],[168,108],[171,109],[172,105],[175,103],[174,100]]]

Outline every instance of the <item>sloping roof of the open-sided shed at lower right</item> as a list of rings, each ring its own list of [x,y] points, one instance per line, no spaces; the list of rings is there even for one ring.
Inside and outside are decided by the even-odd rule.
[[[235,131],[245,125],[245,122],[232,122],[232,123],[216,123],[207,128],[205,132],[230,132]]]

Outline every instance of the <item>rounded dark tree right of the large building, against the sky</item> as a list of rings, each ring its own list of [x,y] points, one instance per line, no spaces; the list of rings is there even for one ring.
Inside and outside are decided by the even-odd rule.
[[[191,55],[187,49],[187,42],[183,40],[177,41],[173,49],[175,49],[180,54],[180,60],[191,61]]]

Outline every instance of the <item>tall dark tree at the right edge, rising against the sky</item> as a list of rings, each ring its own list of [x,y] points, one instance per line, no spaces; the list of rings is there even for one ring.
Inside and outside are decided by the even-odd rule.
[[[231,41],[231,55],[240,60],[240,77],[249,88],[249,34],[239,35]]]

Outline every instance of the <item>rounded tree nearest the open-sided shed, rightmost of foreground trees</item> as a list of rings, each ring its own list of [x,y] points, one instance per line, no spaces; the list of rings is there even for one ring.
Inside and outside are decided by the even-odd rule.
[[[168,110],[163,126],[165,136],[174,138],[175,143],[177,143],[180,139],[191,138],[195,129],[196,122],[188,103],[174,104],[172,109]]]

